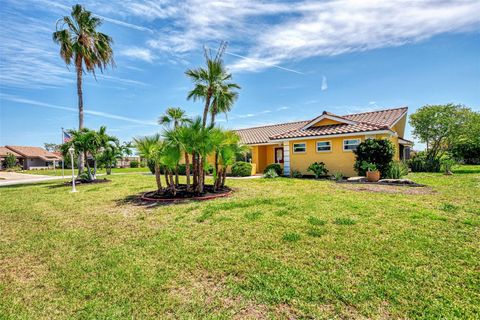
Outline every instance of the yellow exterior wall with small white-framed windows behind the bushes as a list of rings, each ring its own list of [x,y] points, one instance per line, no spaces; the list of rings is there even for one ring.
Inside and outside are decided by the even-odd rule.
[[[311,172],[307,171],[307,168],[313,162],[324,162],[327,166],[329,174],[334,172],[341,172],[344,176],[351,177],[356,176],[357,173],[353,169],[355,162],[355,154],[353,151],[343,150],[343,140],[345,139],[360,139],[360,142],[365,141],[366,138],[388,138],[395,145],[394,159],[399,159],[399,146],[397,137],[388,137],[387,135],[358,135],[348,137],[334,137],[334,138],[322,138],[322,139],[308,139],[289,141],[290,146],[290,167],[291,170],[298,170],[302,174],[311,175]],[[317,152],[317,141],[330,141],[331,151]],[[293,144],[306,143],[307,150],[305,153],[294,153]]]

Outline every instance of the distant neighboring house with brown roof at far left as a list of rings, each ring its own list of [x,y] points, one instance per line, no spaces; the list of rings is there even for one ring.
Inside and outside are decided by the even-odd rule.
[[[3,161],[8,153],[17,158],[18,164],[24,169],[44,169],[58,164],[62,157],[39,147],[5,146],[0,147],[0,160]]]

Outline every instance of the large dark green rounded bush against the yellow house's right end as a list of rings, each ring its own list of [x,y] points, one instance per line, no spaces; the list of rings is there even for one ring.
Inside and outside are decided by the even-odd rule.
[[[393,143],[385,139],[367,139],[353,151],[356,155],[354,169],[359,175],[364,176],[366,169],[362,168],[364,161],[375,164],[382,178],[385,178],[390,168],[395,148]]]

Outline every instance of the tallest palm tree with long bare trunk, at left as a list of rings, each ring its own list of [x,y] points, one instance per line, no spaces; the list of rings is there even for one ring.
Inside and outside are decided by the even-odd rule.
[[[114,66],[110,36],[98,32],[102,20],[77,4],[72,7],[71,17],[57,21],[53,41],[60,45],[60,56],[67,66],[75,65],[77,73],[78,129],[83,129],[82,75],[86,70],[95,76],[95,68],[103,72],[109,64]],[[83,157],[79,159],[79,173],[83,170]]]

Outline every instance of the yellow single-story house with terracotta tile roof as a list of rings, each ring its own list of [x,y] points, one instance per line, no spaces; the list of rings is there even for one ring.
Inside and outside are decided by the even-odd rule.
[[[404,139],[408,108],[387,109],[337,116],[324,111],[313,120],[280,123],[236,130],[251,146],[252,165],[257,173],[279,163],[284,174],[302,174],[313,162],[324,162],[330,174],[356,175],[353,164],[358,144],[369,138],[389,139],[395,160],[408,158],[411,141]]]

